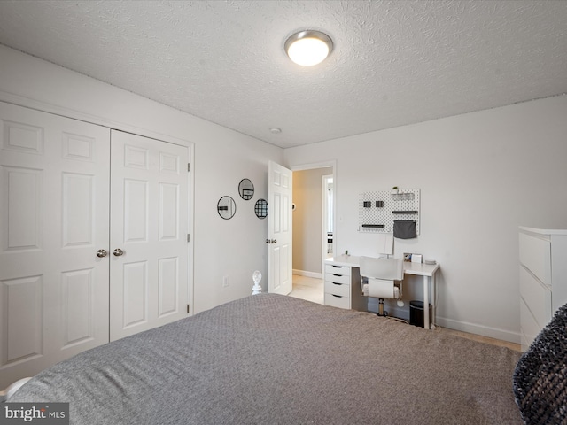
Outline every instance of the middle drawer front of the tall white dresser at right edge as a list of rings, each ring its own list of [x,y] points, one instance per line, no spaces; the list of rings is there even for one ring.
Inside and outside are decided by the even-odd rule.
[[[551,290],[520,266],[520,297],[540,328],[551,320]]]

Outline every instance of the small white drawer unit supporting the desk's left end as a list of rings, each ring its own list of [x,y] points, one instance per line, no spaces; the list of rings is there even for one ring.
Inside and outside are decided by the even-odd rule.
[[[353,267],[348,257],[326,261],[325,305],[366,311],[367,303],[361,296],[360,269]]]

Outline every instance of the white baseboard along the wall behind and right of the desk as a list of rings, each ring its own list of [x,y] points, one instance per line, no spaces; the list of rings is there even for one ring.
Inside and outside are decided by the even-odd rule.
[[[384,310],[388,312],[388,315],[393,317],[399,317],[409,321],[409,306],[406,302],[406,306],[400,308],[396,305],[384,305]],[[369,312],[377,313],[378,311],[378,300],[377,298],[369,298]],[[453,330],[459,330],[461,332],[468,332],[470,334],[476,334],[481,336],[486,336],[489,338],[500,339],[501,341],[508,341],[509,343],[520,344],[521,337],[519,332],[510,332],[509,330],[503,330],[498,328],[490,328],[488,326],[478,325],[476,323],[469,323],[466,321],[454,321],[453,319],[447,319],[446,317],[439,317],[439,314],[435,320],[435,324],[442,328],[449,328]]]

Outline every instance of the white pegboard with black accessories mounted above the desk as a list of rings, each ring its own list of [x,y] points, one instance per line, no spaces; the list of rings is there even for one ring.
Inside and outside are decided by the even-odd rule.
[[[359,232],[392,233],[394,220],[416,220],[419,235],[419,189],[361,192]]]

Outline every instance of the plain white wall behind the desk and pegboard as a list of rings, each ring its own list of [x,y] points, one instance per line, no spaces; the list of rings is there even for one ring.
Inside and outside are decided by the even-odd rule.
[[[375,237],[357,231],[361,191],[421,189],[421,235],[396,239],[395,257],[439,262],[441,326],[519,342],[517,227],[567,228],[566,135],[561,96],[290,148],[284,158],[337,160],[338,252],[377,254]],[[406,299],[423,299],[413,286]]]

